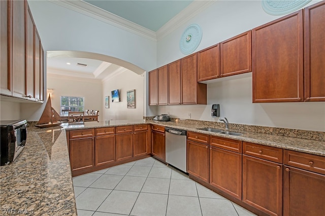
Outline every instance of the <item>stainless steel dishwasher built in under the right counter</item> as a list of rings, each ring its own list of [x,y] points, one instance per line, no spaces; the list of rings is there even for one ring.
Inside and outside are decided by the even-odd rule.
[[[166,162],[186,172],[186,130],[165,127]]]

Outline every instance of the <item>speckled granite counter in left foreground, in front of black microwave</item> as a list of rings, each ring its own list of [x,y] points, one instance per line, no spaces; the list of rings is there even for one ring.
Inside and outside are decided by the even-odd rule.
[[[0,214],[77,215],[64,129],[27,132],[17,159],[0,167]]]

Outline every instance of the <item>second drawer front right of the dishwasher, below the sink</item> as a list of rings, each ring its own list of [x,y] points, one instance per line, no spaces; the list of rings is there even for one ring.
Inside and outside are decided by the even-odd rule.
[[[242,141],[235,139],[211,136],[210,146],[218,147],[220,149],[229,150],[237,153],[242,153]]]

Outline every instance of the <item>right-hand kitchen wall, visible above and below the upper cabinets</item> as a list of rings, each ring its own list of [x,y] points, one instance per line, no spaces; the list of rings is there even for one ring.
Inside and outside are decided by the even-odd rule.
[[[312,1],[306,6],[319,1]],[[179,39],[184,29],[199,24],[203,38],[196,51],[229,39],[249,29],[277,19],[266,14],[261,1],[216,1],[211,7],[157,42],[157,67],[184,57]],[[194,51],[194,52],[196,52]],[[211,106],[219,103],[221,117],[230,123],[325,131],[325,102],[252,103],[251,73],[230,81],[219,79],[208,84],[207,105],[158,106],[157,114],[174,118],[217,121],[211,118]]]

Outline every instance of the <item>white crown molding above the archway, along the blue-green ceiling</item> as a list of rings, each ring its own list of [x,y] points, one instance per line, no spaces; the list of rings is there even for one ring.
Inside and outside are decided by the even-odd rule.
[[[68,8],[70,10],[76,11],[78,13],[84,14],[86,16],[92,17],[94,19],[103,21],[115,27],[121,28],[128,32],[140,35],[144,38],[150,39],[152,41],[156,41],[156,33],[152,30],[149,30],[141,25],[138,25],[134,22],[128,21],[124,18],[116,16],[108,11],[105,11],[101,8],[95,7],[86,3],[84,1],[57,1],[57,0],[49,0],[50,2],[62,6],[64,8]]]

